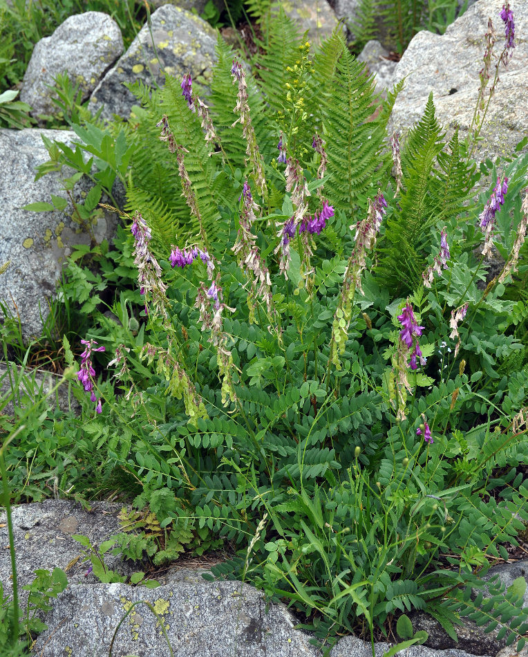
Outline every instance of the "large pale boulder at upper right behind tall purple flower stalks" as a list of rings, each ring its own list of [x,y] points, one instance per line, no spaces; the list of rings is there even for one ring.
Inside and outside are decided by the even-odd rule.
[[[500,19],[503,0],[478,0],[456,20],[443,36],[419,32],[398,63],[393,82],[406,77],[389,129],[407,131],[425,109],[429,93],[444,127],[458,125],[464,138],[471,126],[480,86],[479,73],[486,44],[484,34],[491,17],[496,27],[496,62],[505,43]],[[528,4],[512,2],[516,21],[516,47],[507,68],[500,68],[500,81],[491,100],[483,140],[476,157],[507,156],[527,134],[528,125]],[[491,71],[489,87],[493,82]]]

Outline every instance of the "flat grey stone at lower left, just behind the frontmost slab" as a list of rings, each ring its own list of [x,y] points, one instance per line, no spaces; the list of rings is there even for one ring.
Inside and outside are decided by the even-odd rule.
[[[53,487],[53,479],[50,479]],[[88,536],[93,545],[119,533],[117,514],[122,504],[92,502],[91,512],[80,504],[69,500],[48,499],[12,507],[13,533],[17,555],[17,577],[21,604],[27,600],[27,592],[22,586],[30,584],[35,578],[37,568],[53,571],[62,568],[66,571],[68,583],[97,582],[93,575],[84,577],[88,565],[82,563],[81,545],[72,538],[74,534]],[[6,513],[0,514],[0,580],[6,593],[12,591],[10,552]],[[118,556],[105,555],[106,566],[128,575],[134,568],[127,566]],[[69,567],[68,567],[69,566]],[[139,568],[135,568],[139,570]]]

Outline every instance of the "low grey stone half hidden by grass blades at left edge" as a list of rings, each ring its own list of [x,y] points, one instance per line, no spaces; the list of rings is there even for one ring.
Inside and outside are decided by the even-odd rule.
[[[16,385],[17,382],[19,385]],[[57,384],[60,385],[54,391]],[[46,395],[46,399],[41,402],[40,411],[44,411],[48,406],[58,406],[62,411],[73,410],[79,414],[81,406],[73,396],[73,389],[80,391],[75,382],[72,384],[53,372],[44,369],[23,369],[15,363],[0,363],[0,397],[12,398],[3,408],[0,402],[0,413],[3,415],[14,416],[15,407],[33,406],[43,395]],[[13,394],[13,391],[17,390],[18,394]]]

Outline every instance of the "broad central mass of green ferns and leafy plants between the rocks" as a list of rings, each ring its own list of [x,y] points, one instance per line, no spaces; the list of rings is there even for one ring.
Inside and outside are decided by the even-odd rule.
[[[484,587],[478,571],[506,559],[528,521],[525,305],[508,297],[513,286],[482,286],[486,265],[475,255],[491,189],[476,197],[480,174],[457,133],[445,142],[431,97],[402,145],[396,192],[384,139],[401,85],[376,115],[373,81],[338,33],[312,57],[280,13],[264,28],[247,99],[218,44],[214,145],[170,77],[160,91],[133,86],[142,104],[133,125],[75,124],[75,151],[48,145],[41,173],[74,163],[94,196],[119,180],[124,218],[141,214],[135,239],[128,225],[120,232],[119,252],[78,250],[63,286],[106,346],[97,373],[108,359],[117,377],[115,387],[94,379],[101,414],[80,392],[75,459],[99,490],[120,482],[135,497],[122,534],[101,546],[82,539],[86,556],[103,581],[121,581],[104,565],[110,550],[150,567],[228,542],[234,554],[214,574],[287,600],[321,640],[372,638],[396,621],[402,649],[425,638],[404,620],[415,609],[451,635],[460,613],[482,613],[479,622],[519,638],[518,585],[489,584],[491,605],[466,593]],[[245,130],[233,126],[241,118]],[[256,152],[262,194],[249,183]],[[495,239],[508,255],[528,160],[505,173]],[[140,244],[141,219],[151,239]],[[427,288],[442,229],[451,257]],[[209,267],[198,256],[171,268],[176,247],[207,250]],[[100,273],[81,266],[94,261]],[[131,289],[136,277],[142,294]],[[102,314],[105,299],[119,324]],[[407,304],[423,357],[415,352],[413,368],[398,319]]]

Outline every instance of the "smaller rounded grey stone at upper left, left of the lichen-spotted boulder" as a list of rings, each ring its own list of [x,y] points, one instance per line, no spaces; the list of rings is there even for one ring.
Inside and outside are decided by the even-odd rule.
[[[70,16],[53,35],[41,39],[33,49],[23,77],[20,100],[35,114],[53,114],[58,108],[51,102],[48,84],[68,73],[71,84],[79,84],[86,100],[102,76],[123,52],[123,38],[117,23],[102,12]]]

